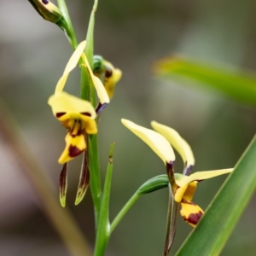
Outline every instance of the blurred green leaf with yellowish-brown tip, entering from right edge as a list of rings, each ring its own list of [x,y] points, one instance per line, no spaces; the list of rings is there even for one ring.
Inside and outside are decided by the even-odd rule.
[[[238,102],[256,107],[256,74],[235,67],[214,67],[209,64],[174,56],[155,63],[159,76],[192,79],[203,89],[213,88]],[[189,84],[189,83],[186,83]]]

